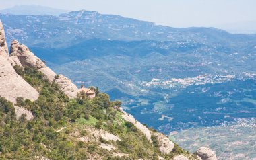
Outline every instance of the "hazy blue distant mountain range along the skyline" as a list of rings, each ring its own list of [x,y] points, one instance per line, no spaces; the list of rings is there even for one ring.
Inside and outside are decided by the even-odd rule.
[[[14,37],[31,46],[67,47],[92,38],[102,40],[186,41],[201,44],[228,44],[255,40],[256,35],[228,34],[216,28],[171,28],[118,15],[95,11],[72,11],[59,16],[5,15],[0,18],[7,28],[7,40]],[[73,42],[70,44],[70,42]]]

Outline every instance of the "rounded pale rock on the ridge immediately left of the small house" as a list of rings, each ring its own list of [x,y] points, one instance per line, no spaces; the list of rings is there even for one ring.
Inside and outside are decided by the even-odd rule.
[[[54,82],[61,86],[61,91],[63,91],[69,98],[77,96],[78,88],[69,78],[64,75],[57,75]]]

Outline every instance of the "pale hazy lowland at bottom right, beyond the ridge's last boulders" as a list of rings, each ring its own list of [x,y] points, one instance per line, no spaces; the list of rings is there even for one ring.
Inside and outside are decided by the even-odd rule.
[[[213,147],[220,160],[254,159],[255,129],[255,118],[241,118],[227,125],[184,130],[171,138],[190,151],[202,144]],[[226,134],[227,130],[230,134]]]

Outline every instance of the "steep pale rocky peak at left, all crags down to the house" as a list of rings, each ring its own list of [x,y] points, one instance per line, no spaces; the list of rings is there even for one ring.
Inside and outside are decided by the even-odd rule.
[[[53,81],[56,74],[46,67],[45,63],[34,55],[30,49],[24,44],[20,44],[18,40],[11,42],[11,53],[8,53],[7,43],[5,41],[5,31],[3,24],[0,21],[0,97],[16,103],[17,97],[24,97],[24,99],[30,99],[32,101],[38,99],[39,93],[30,84],[28,84],[20,75],[18,75],[13,66],[18,65],[20,67],[34,67],[41,71],[46,79]],[[77,87],[67,77],[61,75],[61,81],[58,79],[56,83],[61,86],[61,89],[69,97],[75,97],[78,91]],[[26,114],[26,119],[32,119],[32,113],[25,108],[15,106],[15,113],[17,118]]]

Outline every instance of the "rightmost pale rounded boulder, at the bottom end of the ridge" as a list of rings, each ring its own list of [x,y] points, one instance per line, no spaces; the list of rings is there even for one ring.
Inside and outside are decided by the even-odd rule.
[[[207,147],[200,147],[195,151],[195,155],[198,155],[203,160],[217,160],[216,153]]]

